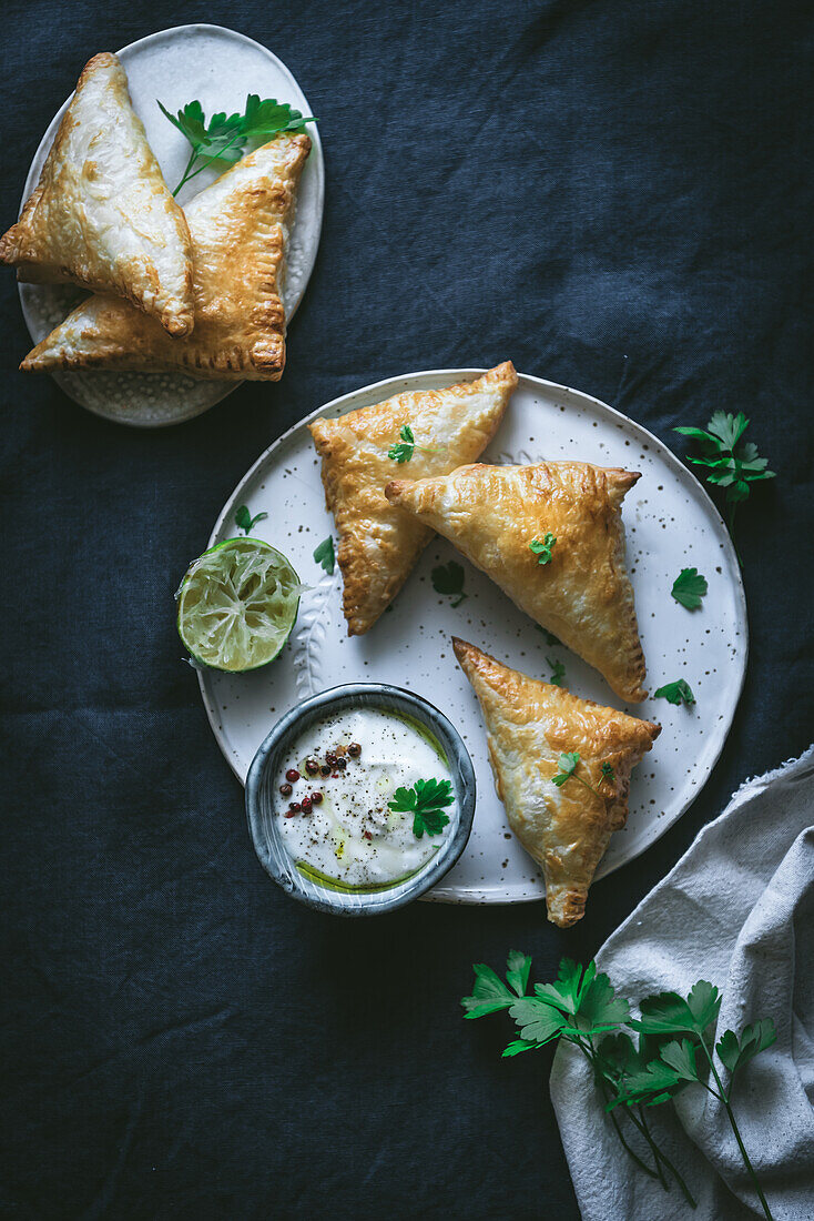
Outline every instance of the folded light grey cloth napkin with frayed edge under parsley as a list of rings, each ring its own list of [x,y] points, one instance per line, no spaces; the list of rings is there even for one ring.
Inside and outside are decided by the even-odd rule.
[[[777,1042],[742,1068],[732,1107],[775,1221],[814,1217],[814,747],[732,797],[597,955],[622,996],[724,993],[718,1029],[771,1017]],[[724,1077],[727,1081],[727,1074]],[[552,1100],[583,1221],[763,1216],[724,1107],[701,1085],[653,1107],[659,1144],[698,1208],[627,1156],[585,1057],[560,1045]]]

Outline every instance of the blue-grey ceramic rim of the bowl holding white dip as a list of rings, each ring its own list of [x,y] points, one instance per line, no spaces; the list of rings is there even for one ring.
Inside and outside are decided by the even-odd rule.
[[[332,891],[328,888],[320,889],[319,893],[306,893],[297,884],[298,871],[292,874],[283,874],[275,868],[273,857],[268,851],[270,835],[266,833],[265,821],[261,808],[260,790],[268,768],[270,759],[281,748],[284,748],[288,740],[294,736],[303,725],[303,720],[315,720],[320,714],[326,714],[333,706],[344,705],[354,697],[361,697],[365,703],[375,705],[377,697],[384,696],[393,700],[397,706],[402,705],[404,712],[410,713],[427,725],[436,734],[448,757],[449,772],[453,777],[455,797],[458,801],[458,824],[454,833],[443,841],[438,852],[422,866],[412,878],[393,886],[389,890],[351,891],[353,902],[349,902],[347,891]],[[387,711],[384,708],[383,711]],[[450,750],[453,747],[453,750]],[[403,907],[405,904],[421,897],[447,874],[460,858],[469,841],[472,822],[475,819],[476,783],[472,759],[466,748],[466,744],[452,720],[439,708],[436,708],[425,696],[406,687],[395,686],[392,683],[342,683],[333,687],[319,691],[301,703],[289,708],[268,730],[262,742],[258,747],[249,766],[245,784],[245,812],[249,824],[249,835],[265,872],[281,889],[293,899],[314,907],[317,911],[330,912],[334,916],[376,916],[383,912]],[[273,828],[273,818],[271,827]],[[275,834],[273,832],[271,833]],[[275,835],[276,839],[276,835]],[[287,855],[277,840],[281,855]],[[290,857],[289,857],[290,860]],[[297,882],[294,880],[297,878]]]

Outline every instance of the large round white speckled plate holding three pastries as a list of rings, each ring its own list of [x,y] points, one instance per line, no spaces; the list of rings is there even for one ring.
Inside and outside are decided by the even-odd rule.
[[[376,626],[349,639],[340,604],[340,575],[327,576],[312,552],[333,532],[325,508],[320,465],[309,420],[340,415],[402,391],[449,386],[482,370],[444,369],[393,377],[319,408],[275,442],[240,481],[209,540],[236,534],[234,512],[248,504],[268,518],[255,534],[282,548],[303,581],[300,614],[279,658],[265,670],[228,676],[199,674],[218,745],[245,781],[251,758],[272,724],[298,701],[338,683],[378,681],[426,696],[461,733],[477,778],[475,825],[466,851],[428,897],[449,902],[516,902],[539,899],[544,888],[531,858],[506,825],[486,753],[475,695],[449,643],[454,634],[539,678],[554,662],[576,695],[622,707],[604,680],[543,632],[466,560],[466,600],[439,596],[431,570],[456,557],[450,543],[432,542]],[[538,377],[520,377],[484,462],[530,463],[578,458],[642,471],[625,499],[627,560],[636,591],[648,687],[686,678],[697,703],[674,707],[648,700],[629,711],[661,723],[663,733],[633,772],[627,827],[618,832],[599,866],[603,877],[643,852],[690,806],[718,758],[741,694],[747,659],[743,586],[726,527],[686,466],[657,437],[589,394]],[[460,558],[460,557],[459,557]],[[670,597],[682,568],[709,582],[699,610]],[[550,659],[550,661],[549,661]]]

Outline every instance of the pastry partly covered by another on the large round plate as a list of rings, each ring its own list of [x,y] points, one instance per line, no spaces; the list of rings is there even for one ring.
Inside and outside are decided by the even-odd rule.
[[[517,385],[510,360],[482,377],[447,389],[397,394],[384,403],[315,420],[311,436],[322,458],[322,482],[339,534],[348,635],[360,636],[404,585],[432,530],[393,508],[384,485],[399,470],[416,479],[443,475],[487,447]],[[415,448],[403,465],[388,457],[402,430]]]

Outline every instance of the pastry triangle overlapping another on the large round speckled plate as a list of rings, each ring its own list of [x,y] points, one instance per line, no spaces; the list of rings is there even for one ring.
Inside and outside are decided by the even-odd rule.
[[[583,462],[461,466],[398,479],[391,504],[459,551],[604,675],[622,700],[643,700],[644,654],[625,568],[621,502],[638,479]],[[553,535],[549,559],[532,549]]]

